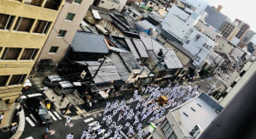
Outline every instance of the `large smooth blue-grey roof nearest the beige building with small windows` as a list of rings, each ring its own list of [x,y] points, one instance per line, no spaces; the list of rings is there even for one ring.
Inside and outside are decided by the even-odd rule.
[[[73,37],[72,47],[74,52],[108,53],[104,36],[84,31],[77,31]]]

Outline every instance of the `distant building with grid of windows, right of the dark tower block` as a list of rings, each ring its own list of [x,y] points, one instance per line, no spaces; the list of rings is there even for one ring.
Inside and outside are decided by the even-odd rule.
[[[235,29],[235,25],[233,25],[229,20],[224,21],[224,24],[220,26],[218,31],[223,35],[225,39],[227,39],[232,31]]]

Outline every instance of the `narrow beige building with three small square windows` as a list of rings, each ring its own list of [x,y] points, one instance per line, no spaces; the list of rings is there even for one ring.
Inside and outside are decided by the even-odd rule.
[[[72,3],[66,1],[63,4],[38,58],[38,64],[44,63],[49,58],[54,64],[61,62],[92,2],[93,0],[74,0]]]

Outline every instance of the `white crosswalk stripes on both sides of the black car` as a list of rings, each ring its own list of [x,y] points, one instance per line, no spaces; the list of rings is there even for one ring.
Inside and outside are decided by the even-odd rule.
[[[52,120],[62,120],[60,114],[58,114],[56,111],[48,111],[49,115],[51,116]],[[27,121],[27,123],[29,125],[36,126],[38,121],[36,120],[36,118],[33,116],[33,114],[29,114],[29,116],[25,117],[25,120]]]

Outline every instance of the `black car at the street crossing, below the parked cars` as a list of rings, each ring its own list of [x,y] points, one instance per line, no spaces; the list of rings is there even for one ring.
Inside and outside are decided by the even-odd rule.
[[[37,97],[27,98],[26,106],[32,111],[38,125],[49,125],[53,121],[44,103]]]

